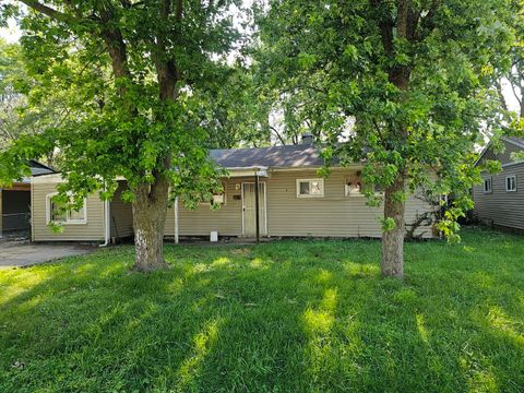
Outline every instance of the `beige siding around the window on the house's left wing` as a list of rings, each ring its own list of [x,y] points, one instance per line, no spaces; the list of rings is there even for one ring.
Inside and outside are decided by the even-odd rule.
[[[33,183],[33,240],[34,241],[104,241],[104,202],[98,194],[87,198],[86,224],[64,224],[63,231],[53,233],[47,225],[46,203],[47,195],[56,192],[56,183]]]

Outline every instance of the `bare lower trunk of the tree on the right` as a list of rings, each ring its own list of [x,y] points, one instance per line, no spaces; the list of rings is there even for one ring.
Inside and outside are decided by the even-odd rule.
[[[404,275],[404,211],[405,202],[404,177],[400,174],[397,178],[385,189],[384,194],[384,218],[393,218],[395,227],[382,234],[382,275],[386,277],[402,278]]]

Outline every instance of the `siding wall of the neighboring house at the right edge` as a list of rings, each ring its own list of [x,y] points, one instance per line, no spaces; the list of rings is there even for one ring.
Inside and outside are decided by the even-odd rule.
[[[516,191],[505,191],[505,178],[516,176]],[[474,186],[474,214],[488,225],[500,225],[524,229],[524,163],[504,167],[497,175],[483,174],[492,178],[492,192],[484,192],[484,182]]]

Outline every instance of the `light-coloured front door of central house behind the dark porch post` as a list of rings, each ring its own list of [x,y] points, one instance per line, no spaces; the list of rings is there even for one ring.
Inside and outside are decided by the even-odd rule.
[[[254,183],[242,183],[242,219],[243,236],[257,236],[257,202]],[[265,214],[265,183],[259,183],[259,223],[260,235],[267,235],[266,214]]]

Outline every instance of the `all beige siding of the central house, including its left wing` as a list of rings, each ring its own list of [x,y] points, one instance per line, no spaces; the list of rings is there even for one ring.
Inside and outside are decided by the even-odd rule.
[[[324,179],[323,198],[297,198],[297,179],[318,178],[315,169],[273,171],[266,183],[269,236],[318,237],[381,237],[382,207],[369,207],[364,196],[345,196],[345,176],[349,169],[333,169]],[[189,210],[179,203],[179,235],[209,236],[217,230],[219,236],[242,236],[242,182],[253,178],[231,178],[226,183],[226,204],[218,210],[201,205]],[[87,224],[66,225],[55,234],[46,223],[46,195],[55,192],[56,184],[33,184],[33,219],[35,241],[48,240],[104,240],[104,203],[97,194],[87,199]],[[132,235],[131,205],[120,200],[121,187],[111,202],[111,236]],[[406,223],[430,206],[414,196],[406,202]],[[421,228],[424,237],[432,237],[431,228]],[[416,234],[420,234],[420,230]],[[175,235],[175,210],[167,211],[165,235]]]

